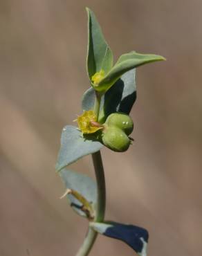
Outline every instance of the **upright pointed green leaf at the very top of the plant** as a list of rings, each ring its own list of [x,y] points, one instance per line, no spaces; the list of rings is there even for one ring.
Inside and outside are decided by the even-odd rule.
[[[86,8],[89,17],[89,42],[87,51],[87,71],[89,79],[101,70],[108,73],[113,66],[113,54],[102,35],[100,25],[94,13]]]

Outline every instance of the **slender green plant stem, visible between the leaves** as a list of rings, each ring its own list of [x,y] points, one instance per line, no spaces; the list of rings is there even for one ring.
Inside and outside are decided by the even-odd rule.
[[[95,115],[99,116],[100,112],[100,100],[101,96],[95,92],[95,105],[94,105],[94,112]],[[106,189],[105,189],[105,179],[104,179],[104,167],[102,164],[102,156],[100,151],[95,152],[92,154],[93,158],[93,166],[95,169],[95,177],[97,182],[97,190],[98,190],[98,198],[97,198],[97,205],[95,211],[95,222],[102,222],[104,221],[104,212],[105,212],[105,205],[106,205]],[[95,242],[98,233],[89,227],[89,230],[86,234],[86,238],[78,251],[76,256],[87,256]]]

